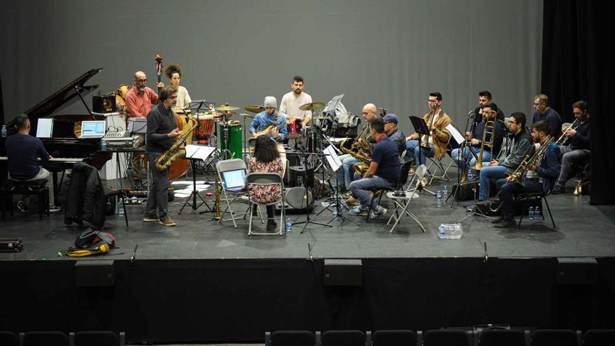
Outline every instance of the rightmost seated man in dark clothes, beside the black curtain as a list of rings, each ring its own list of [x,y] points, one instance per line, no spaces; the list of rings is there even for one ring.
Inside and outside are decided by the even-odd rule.
[[[589,110],[586,101],[572,103],[572,113],[581,124],[576,129],[563,128],[570,144],[560,145],[562,153],[562,171],[552,194],[563,194],[566,192],[565,185],[570,178],[572,164],[584,164],[591,159],[591,123],[589,122]]]

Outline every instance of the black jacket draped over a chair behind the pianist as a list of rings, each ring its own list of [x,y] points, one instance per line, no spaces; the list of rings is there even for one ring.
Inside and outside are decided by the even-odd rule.
[[[99,171],[89,164],[75,164],[67,185],[64,223],[80,223],[84,219],[94,228],[102,229],[109,190],[103,185]]]

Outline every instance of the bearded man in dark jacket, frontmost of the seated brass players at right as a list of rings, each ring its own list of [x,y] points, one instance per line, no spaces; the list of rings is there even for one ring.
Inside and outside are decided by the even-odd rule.
[[[532,139],[535,143],[544,145],[551,133],[549,123],[544,120],[532,125]],[[542,159],[542,161],[540,161]],[[537,164],[540,161],[540,166]],[[562,156],[555,143],[549,144],[544,158],[538,157],[536,161],[529,162],[529,168],[523,177],[521,184],[515,182],[512,177],[498,180],[495,184],[500,186],[500,201],[502,201],[502,216],[492,221],[496,228],[508,228],[516,226],[514,221],[513,196],[522,192],[540,192],[549,194],[555,180],[558,178],[561,168]]]

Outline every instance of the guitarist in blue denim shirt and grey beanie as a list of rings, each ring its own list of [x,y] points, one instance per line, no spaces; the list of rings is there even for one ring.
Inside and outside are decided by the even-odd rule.
[[[275,140],[277,145],[277,151],[280,152],[280,159],[282,159],[283,170],[282,175],[286,172],[286,150],[282,145],[282,141],[288,135],[287,130],[287,115],[284,113],[276,112],[277,100],[273,96],[267,96],[263,102],[263,110],[254,116],[252,124],[248,129],[249,133],[254,138],[263,134],[268,134],[271,139]]]

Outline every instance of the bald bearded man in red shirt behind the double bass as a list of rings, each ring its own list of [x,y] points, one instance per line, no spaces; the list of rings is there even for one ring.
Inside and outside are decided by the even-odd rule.
[[[143,71],[136,71],[134,84],[126,94],[126,122],[131,117],[147,117],[147,114],[152,110],[152,104],[158,103],[158,94],[154,90],[146,87],[147,76]],[[157,84],[157,87],[164,87],[162,82]],[[139,134],[139,146],[145,145],[145,135]],[[140,155],[133,155],[132,168],[133,178],[140,180],[140,169],[143,165],[140,163]]]

